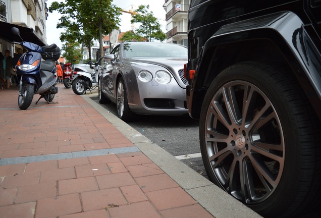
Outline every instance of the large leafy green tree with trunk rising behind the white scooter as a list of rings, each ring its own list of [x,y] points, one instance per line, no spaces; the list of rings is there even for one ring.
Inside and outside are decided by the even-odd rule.
[[[65,0],[53,2],[49,12],[62,14],[57,28],[68,29],[61,40],[73,40],[91,46],[92,39],[99,40],[100,56],[103,56],[102,35],[108,35],[115,29],[122,14],[121,8],[112,4],[112,0]],[[91,49],[89,49],[91,50]]]

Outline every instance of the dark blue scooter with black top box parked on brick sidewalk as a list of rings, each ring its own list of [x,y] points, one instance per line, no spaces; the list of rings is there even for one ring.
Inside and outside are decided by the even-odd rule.
[[[18,28],[13,27],[12,32],[21,38],[21,42],[14,42],[27,48],[16,66],[19,82],[18,106],[26,110],[34,94],[39,94],[47,103],[50,103],[58,93],[57,66],[55,61],[60,57],[60,48],[56,44],[39,46],[32,42],[23,41]],[[41,61],[41,58],[43,61]]]

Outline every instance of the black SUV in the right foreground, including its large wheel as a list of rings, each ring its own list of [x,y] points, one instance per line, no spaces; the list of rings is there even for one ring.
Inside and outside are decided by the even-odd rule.
[[[205,169],[264,217],[321,194],[320,37],[321,0],[190,3],[186,94]]]

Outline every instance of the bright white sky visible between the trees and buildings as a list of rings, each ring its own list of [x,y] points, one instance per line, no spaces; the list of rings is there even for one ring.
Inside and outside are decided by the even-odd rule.
[[[52,2],[61,2],[61,0],[48,0],[47,8],[51,6]],[[140,5],[149,5],[149,10],[153,12],[154,16],[158,18],[159,23],[162,25],[163,32],[166,33],[165,25],[165,15],[166,11],[163,9],[165,1],[163,0],[113,0],[112,4],[116,5],[119,8],[122,8],[125,11],[131,10],[131,7],[133,5],[133,9],[137,9]],[[56,43],[60,48],[62,47],[62,42],[59,39],[60,33],[63,31],[63,29],[57,29],[57,23],[60,18],[60,14],[55,11],[53,13],[48,12],[48,17],[46,20],[46,28],[47,28],[47,44]],[[120,29],[122,32],[126,32],[128,30],[131,30],[131,15],[127,13],[123,13],[120,16],[121,22],[120,22]],[[137,24],[135,25],[135,29],[137,28]]]

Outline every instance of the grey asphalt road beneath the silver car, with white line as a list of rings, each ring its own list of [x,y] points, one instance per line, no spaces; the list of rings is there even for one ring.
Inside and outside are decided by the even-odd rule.
[[[91,97],[98,103],[98,97]],[[101,104],[117,116],[116,104]],[[198,121],[189,116],[141,116],[128,123],[136,131],[161,146],[190,168],[207,178],[199,148]]]

